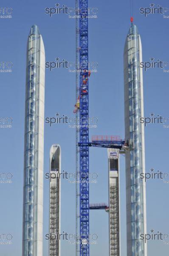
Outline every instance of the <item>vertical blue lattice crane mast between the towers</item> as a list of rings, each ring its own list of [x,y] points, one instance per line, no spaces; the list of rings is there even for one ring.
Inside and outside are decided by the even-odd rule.
[[[79,0],[80,58],[80,256],[89,256],[89,106],[88,106],[88,18],[87,0]],[[86,12],[85,12],[86,10]],[[84,124],[85,120],[85,124]]]

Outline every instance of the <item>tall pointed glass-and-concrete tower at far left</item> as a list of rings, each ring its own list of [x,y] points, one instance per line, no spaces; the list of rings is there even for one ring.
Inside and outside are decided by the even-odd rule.
[[[45,49],[36,25],[27,44],[23,256],[42,256]]]

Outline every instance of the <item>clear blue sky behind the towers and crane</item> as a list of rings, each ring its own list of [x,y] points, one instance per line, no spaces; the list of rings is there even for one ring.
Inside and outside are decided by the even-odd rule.
[[[73,7],[73,0],[58,1]],[[124,83],[123,49],[130,28],[130,1],[106,3],[89,0],[89,6],[99,10],[97,19],[89,20],[89,61],[99,63],[98,72],[90,76],[90,116],[98,118],[92,135],[120,135],[124,137]],[[169,1],[153,2],[169,8]],[[37,24],[45,45],[46,61],[56,57],[75,61],[75,20],[68,15],[45,14],[46,7],[56,2],[45,0],[28,2],[1,0],[1,7],[13,8],[11,19],[0,18],[0,62],[13,63],[11,73],[0,73],[0,118],[12,117],[12,128],[0,128],[0,173],[11,172],[12,184],[0,184],[0,234],[13,235],[11,245],[0,245],[0,255],[21,256],[23,212],[23,154],[25,111],[25,64],[28,33]],[[134,23],[141,35],[143,61],[149,58],[169,62],[169,19],[160,14],[141,15],[139,9],[148,8],[149,2],[134,3]],[[2,15],[2,13],[0,14]],[[168,68],[166,68],[168,69]],[[144,75],[144,116],[155,113],[168,117],[169,73],[163,69],[149,69]],[[75,75],[67,69],[46,70],[45,117],[55,113],[73,117],[75,103]],[[150,168],[169,172],[169,128],[149,124],[145,128],[146,172]],[[75,129],[59,124],[45,124],[44,173],[49,170],[49,150],[53,143],[61,145],[62,170],[75,171]],[[120,159],[121,178],[121,255],[126,256],[126,200],[124,156]],[[90,186],[90,202],[108,201],[107,150],[90,148],[90,172],[98,172],[98,183]],[[1,178],[2,180],[2,178]],[[167,180],[167,179],[166,179]],[[169,180],[169,179],[168,179]],[[44,251],[48,253],[48,181],[44,178]],[[147,233],[150,229],[169,233],[169,184],[163,180],[146,183]],[[75,185],[62,180],[61,230],[75,233]],[[104,211],[90,213],[90,233],[98,233],[97,245],[90,246],[93,256],[108,255],[108,215]],[[169,240],[168,240],[169,241]],[[148,255],[166,256],[168,246],[161,241],[148,243]],[[75,247],[62,241],[62,255],[74,256]]]

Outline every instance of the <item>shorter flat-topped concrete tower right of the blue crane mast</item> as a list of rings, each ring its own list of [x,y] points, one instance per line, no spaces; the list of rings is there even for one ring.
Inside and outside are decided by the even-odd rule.
[[[108,148],[109,256],[120,256],[119,149]]]

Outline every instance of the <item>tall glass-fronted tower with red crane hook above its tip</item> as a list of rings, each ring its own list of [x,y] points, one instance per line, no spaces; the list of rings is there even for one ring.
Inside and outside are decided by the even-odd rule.
[[[124,47],[125,140],[130,146],[126,152],[127,256],[147,255],[146,244],[140,240],[140,234],[146,233],[146,187],[140,179],[145,172],[141,61],[141,39],[132,24]]]

